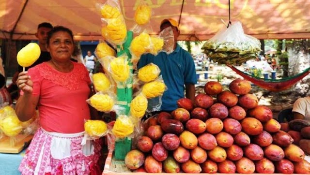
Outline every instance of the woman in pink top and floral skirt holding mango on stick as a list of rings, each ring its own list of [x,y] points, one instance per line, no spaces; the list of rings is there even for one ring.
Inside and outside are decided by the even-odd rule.
[[[52,29],[47,50],[51,60],[19,73],[16,81],[21,89],[16,104],[18,118],[29,120],[38,107],[41,124],[19,171],[25,175],[96,173],[100,144],[87,141],[81,145],[84,120],[91,117],[85,102],[91,81],[83,64],[70,61],[72,31],[62,26]]]

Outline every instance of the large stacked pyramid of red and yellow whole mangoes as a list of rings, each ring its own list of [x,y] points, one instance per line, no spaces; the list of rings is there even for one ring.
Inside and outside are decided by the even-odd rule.
[[[229,89],[207,82],[195,103],[180,99],[171,114],[149,118],[126,166],[148,173],[310,174],[303,150],[270,108],[258,105],[250,83],[235,79]]]

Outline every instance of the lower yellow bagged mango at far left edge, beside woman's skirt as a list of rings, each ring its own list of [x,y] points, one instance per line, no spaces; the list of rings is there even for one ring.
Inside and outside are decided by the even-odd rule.
[[[0,129],[5,135],[13,137],[18,135],[23,127],[16,116],[8,116],[0,120]]]

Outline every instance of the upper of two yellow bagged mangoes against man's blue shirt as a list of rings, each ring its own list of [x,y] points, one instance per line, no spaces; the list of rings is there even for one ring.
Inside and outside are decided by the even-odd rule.
[[[156,64],[148,64],[139,69],[138,78],[143,82],[155,80],[160,73],[160,69]]]

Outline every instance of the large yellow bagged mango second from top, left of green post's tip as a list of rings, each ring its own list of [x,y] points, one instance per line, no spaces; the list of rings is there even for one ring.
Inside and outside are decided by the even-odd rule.
[[[107,19],[108,25],[101,29],[102,36],[114,44],[123,44],[127,29],[122,17]]]

